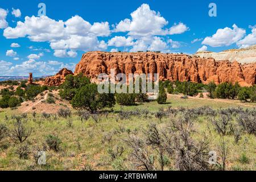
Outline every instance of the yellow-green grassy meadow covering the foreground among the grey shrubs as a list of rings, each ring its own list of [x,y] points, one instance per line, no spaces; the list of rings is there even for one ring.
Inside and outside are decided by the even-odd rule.
[[[213,110],[209,113],[215,111],[217,115],[211,116],[211,114],[206,113],[195,115],[186,111],[203,108],[203,106],[209,106]],[[230,107],[237,109],[232,114],[227,114],[229,111],[220,112],[220,109],[225,110]],[[63,118],[59,117],[58,114],[47,115],[32,112],[24,114],[18,113],[17,110],[2,109],[0,111],[0,123],[7,127],[7,133],[11,134],[15,131],[18,117],[22,120],[24,129],[31,130],[31,134],[22,143],[9,137],[9,135],[0,140],[0,170],[144,170],[144,167],[150,167],[153,170],[187,169],[184,167],[184,163],[180,162],[179,153],[181,148],[186,148],[182,146],[184,144],[181,144],[184,141],[179,141],[179,145],[177,145],[175,144],[177,139],[169,137],[170,143],[163,139],[166,138],[164,133],[172,135],[166,129],[173,127],[172,124],[176,121],[177,125],[183,123],[181,120],[186,118],[185,115],[191,115],[193,118],[190,118],[191,121],[189,120],[192,123],[191,126],[187,124],[187,121],[185,121],[187,123],[184,122],[184,126],[189,126],[185,129],[185,133],[189,130],[187,134],[193,140],[193,144],[200,146],[203,140],[208,143],[207,147],[202,148],[204,152],[192,160],[196,162],[202,158],[207,160],[210,158],[209,151],[216,151],[217,153],[218,164],[205,164],[207,168],[202,169],[255,170],[256,136],[246,131],[240,132],[239,129],[240,136],[236,142],[234,134],[227,132],[222,137],[212,122],[213,118],[228,115],[231,118],[229,122],[237,126],[240,110],[249,109],[252,110],[251,113],[254,113],[255,109],[253,110],[253,108],[255,108],[255,104],[243,104],[239,101],[203,98],[181,99],[179,96],[168,95],[165,105],[158,105],[157,102],[136,106],[115,105],[113,111],[90,115],[89,118],[85,117],[83,121],[81,121],[77,110],[72,110],[71,117]],[[197,112],[200,110],[197,109]],[[174,121],[174,119],[176,120]],[[179,121],[179,119],[181,120]],[[164,144],[145,144],[148,140],[147,137],[151,136],[148,132],[152,131],[152,128],[149,130],[148,126],[152,123],[155,123]],[[172,133],[174,136],[182,135],[177,130],[172,130]],[[46,140],[48,135],[60,139],[58,150],[49,147]],[[148,157],[142,157],[143,164],[139,163],[139,158],[142,155],[134,155],[136,142],[134,145],[127,142],[134,139],[131,136],[141,139],[142,143],[144,141],[141,154],[147,154]],[[221,141],[224,141],[224,147]],[[137,143],[137,145],[139,144]],[[168,151],[166,145],[170,145],[169,148],[174,147],[174,149]],[[221,148],[224,148],[224,151]],[[46,165],[38,165],[38,158],[36,158],[38,151],[46,151]],[[159,151],[163,151],[161,160]],[[222,154],[225,151],[225,167],[223,168]],[[188,152],[194,154],[198,151],[194,148]]]

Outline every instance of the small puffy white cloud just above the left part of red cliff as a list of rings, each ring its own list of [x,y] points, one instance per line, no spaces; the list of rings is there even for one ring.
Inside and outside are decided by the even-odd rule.
[[[110,39],[108,42],[108,46],[115,46],[115,47],[129,47],[133,46],[133,38],[129,36],[125,38],[124,36],[115,36],[114,38]]]

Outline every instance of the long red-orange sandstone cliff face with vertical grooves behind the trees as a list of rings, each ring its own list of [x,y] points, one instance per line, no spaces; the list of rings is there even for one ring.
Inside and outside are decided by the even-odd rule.
[[[255,84],[256,63],[239,64],[236,61],[216,61],[197,56],[155,52],[108,53],[88,52],[76,65],[75,75],[97,78],[100,73],[159,73],[160,80],[192,81],[207,84],[210,81],[239,82],[242,86]]]

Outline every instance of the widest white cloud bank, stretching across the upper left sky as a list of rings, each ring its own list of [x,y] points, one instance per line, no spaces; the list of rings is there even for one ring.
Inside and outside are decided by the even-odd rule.
[[[110,29],[108,22],[96,22],[92,25],[78,15],[66,22],[56,21],[47,16],[26,16],[25,21],[19,21],[15,28],[7,27],[3,35],[7,39],[27,36],[33,42],[50,42],[52,49],[95,51],[107,48],[106,43],[99,41],[97,37],[109,36]],[[69,56],[74,55],[73,52],[69,53]]]

